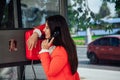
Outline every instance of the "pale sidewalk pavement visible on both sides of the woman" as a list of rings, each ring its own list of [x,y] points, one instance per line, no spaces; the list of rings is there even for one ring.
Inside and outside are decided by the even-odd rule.
[[[46,80],[41,65],[34,65],[37,79]],[[27,66],[25,70],[26,79],[33,79],[34,74],[31,66]],[[78,68],[81,80],[120,80],[120,71],[101,70],[91,68]]]

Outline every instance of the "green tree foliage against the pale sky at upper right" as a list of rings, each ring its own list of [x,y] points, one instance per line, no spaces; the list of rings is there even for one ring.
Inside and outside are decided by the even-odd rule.
[[[103,3],[100,7],[99,14],[93,13],[89,7],[87,0],[73,0],[73,4],[68,6],[68,21],[71,27],[77,26],[78,29],[86,30],[88,27],[102,27],[105,30],[111,30],[113,24],[108,24],[101,21],[110,14],[110,10],[107,7],[107,2],[115,3],[115,9],[118,17],[120,17],[120,0],[101,0]],[[94,24],[91,23],[93,20]],[[101,23],[101,24],[98,24]],[[74,25],[74,26],[73,26]],[[97,25],[97,26],[96,26]]]

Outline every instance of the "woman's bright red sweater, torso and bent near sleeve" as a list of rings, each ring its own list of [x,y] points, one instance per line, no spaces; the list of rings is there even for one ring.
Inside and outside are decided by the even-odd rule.
[[[48,80],[80,80],[78,72],[71,73],[68,55],[64,47],[57,46],[51,54],[38,55]]]

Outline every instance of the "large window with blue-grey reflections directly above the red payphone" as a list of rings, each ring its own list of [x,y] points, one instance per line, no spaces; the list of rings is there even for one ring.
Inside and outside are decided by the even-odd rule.
[[[59,12],[59,0],[21,0],[22,28],[32,28],[45,22],[45,17]]]

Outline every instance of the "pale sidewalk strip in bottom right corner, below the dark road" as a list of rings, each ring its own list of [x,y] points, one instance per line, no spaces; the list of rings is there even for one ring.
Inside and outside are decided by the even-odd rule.
[[[120,71],[78,68],[81,80],[120,80]]]

